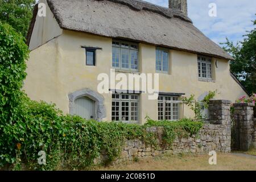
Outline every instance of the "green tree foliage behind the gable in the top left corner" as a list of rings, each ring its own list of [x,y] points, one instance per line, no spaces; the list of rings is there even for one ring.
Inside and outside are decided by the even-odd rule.
[[[26,37],[34,5],[35,0],[0,0],[0,21]]]

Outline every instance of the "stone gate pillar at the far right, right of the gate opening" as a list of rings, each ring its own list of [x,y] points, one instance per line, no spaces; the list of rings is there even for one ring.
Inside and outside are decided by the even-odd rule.
[[[253,103],[234,104],[234,119],[239,123],[240,149],[249,150],[254,145]]]

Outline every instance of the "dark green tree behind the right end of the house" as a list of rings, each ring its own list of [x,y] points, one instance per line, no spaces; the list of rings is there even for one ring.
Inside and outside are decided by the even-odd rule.
[[[230,62],[231,71],[251,94],[256,92],[256,28],[244,36],[245,39],[237,44],[230,42],[228,38],[222,44],[225,44],[225,51],[234,57],[234,61]]]

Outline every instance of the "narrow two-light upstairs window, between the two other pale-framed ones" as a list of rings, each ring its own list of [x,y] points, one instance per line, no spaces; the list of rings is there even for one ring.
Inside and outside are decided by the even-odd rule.
[[[156,48],[156,72],[168,73],[169,71],[169,53],[168,49]]]

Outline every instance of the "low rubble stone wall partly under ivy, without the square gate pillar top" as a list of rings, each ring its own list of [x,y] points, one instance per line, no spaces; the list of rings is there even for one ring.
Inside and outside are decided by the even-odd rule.
[[[158,130],[158,134],[162,131]],[[160,143],[159,143],[160,145]],[[230,133],[223,125],[204,125],[197,135],[176,138],[170,147],[146,146],[141,140],[127,140],[121,158],[152,158],[161,154],[208,154],[209,151],[230,152]]]

